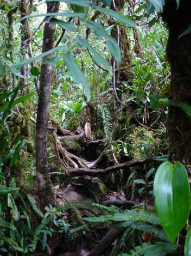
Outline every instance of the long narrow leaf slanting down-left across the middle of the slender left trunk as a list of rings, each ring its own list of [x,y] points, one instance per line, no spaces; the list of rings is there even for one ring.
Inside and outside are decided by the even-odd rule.
[[[31,62],[35,62],[37,59],[46,57],[50,53],[53,53],[53,52],[56,52],[56,51],[60,51],[60,50],[62,50],[65,47],[66,46],[61,45],[61,46],[55,47],[55,48],[53,48],[53,49],[51,49],[51,50],[49,50],[47,52],[43,52],[43,53],[41,53],[38,56],[35,56],[33,58],[30,58],[30,59],[27,59],[27,60],[22,60],[22,62],[17,62],[16,64],[9,66],[9,68],[6,70],[6,72],[8,72],[9,70],[14,70],[14,69],[21,68],[21,66],[27,65],[27,64],[29,64]]]

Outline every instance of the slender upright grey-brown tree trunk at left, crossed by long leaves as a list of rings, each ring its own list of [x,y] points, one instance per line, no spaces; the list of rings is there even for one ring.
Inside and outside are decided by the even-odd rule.
[[[47,4],[47,13],[56,13],[59,10],[59,3],[51,2]],[[55,25],[45,21],[42,51],[46,52],[54,46]],[[36,172],[38,181],[38,196],[41,200],[42,208],[48,204],[54,204],[55,195],[49,176],[47,157],[47,133],[50,88],[52,81],[52,64],[44,62],[50,59],[53,54],[42,59],[39,104],[36,119]]]

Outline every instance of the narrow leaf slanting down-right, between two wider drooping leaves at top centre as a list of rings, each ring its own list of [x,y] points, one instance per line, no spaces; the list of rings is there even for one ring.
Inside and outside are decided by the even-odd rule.
[[[97,51],[94,50],[94,48],[86,41],[86,39],[81,39],[79,36],[76,36],[75,41],[77,41],[77,44],[80,47],[88,48],[88,50],[92,53],[94,62],[99,66],[104,66],[104,68],[107,69],[112,76],[113,73],[110,64]]]

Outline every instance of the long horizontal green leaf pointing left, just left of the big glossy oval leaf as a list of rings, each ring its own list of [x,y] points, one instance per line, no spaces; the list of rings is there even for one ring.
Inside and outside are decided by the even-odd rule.
[[[85,221],[89,222],[105,222],[105,221],[145,221],[151,224],[160,224],[159,219],[153,212],[130,210],[126,212],[117,212],[113,215],[106,215],[101,217],[87,217]]]

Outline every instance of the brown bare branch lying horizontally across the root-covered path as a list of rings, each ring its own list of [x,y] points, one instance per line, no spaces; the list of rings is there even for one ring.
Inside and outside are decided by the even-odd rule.
[[[84,175],[93,176],[93,175],[109,174],[119,169],[126,169],[126,167],[142,165],[147,161],[148,159],[138,160],[138,161],[132,160],[124,163],[119,163],[119,164],[116,164],[115,166],[110,166],[105,169],[76,168],[76,169],[67,169],[66,171],[68,176],[84,176]]]

